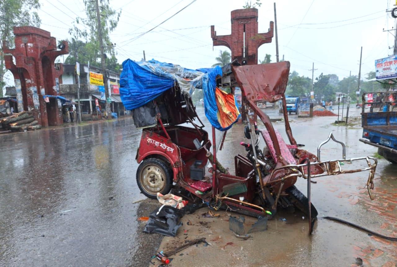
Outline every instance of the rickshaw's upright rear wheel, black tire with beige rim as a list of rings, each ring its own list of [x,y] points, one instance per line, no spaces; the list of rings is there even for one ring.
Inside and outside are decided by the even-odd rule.
[[[172,175],[167,163],[161,159],[145,159],[137,169],[139,190],[148,198],[157,198],[157,193],[168,194],[172,188]]]

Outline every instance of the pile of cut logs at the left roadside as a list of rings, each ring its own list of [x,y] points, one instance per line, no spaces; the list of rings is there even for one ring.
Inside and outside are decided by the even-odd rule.
[[[28,111],[22,111],[8,117],[3,117],[0,119],[0,123],[3,128],[3,131],[0,131],[0,133],[25,132],[41,128],[41,125],[35,121],[35,116]]]

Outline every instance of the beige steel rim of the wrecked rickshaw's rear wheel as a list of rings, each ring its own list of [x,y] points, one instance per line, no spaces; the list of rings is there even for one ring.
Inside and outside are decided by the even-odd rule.
[[[143,189],[149,194],[155,195],[162,192],[166,186],[166,174],[163,169],[156,164],[146,165],[139,175]]]

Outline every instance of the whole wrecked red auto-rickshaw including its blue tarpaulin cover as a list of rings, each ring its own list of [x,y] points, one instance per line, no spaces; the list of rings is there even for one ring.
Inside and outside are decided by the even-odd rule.
[[[309,233],[317,216],[310,202],[311,179],[369,171],[366,188],[372,199],[375,158],[347,159],[345,145],[332,133],[318,146],[317,155],[303,150],[303,145],[293,138],[284,95],[289,66],[288,61],[243,66],[233,62],[223,68],[191,70],[155,60],[124,61],[121,99],[132,110],[135,126],[143,129],[136,155],[140,163],[136,177],[141,192],[156,198],[157,193],[167,194],[175,186],[176,193],[198,199],[211,208],[230,207],[256,217],[271,218],[279,208],[297,208],[308,216]],[[241,89],[241,113],[233,95],[235,88]],[[194,90],[203,90],[204,112],[212,125],[212,144],[191,99]],[[259,101],[278,100],[282,101],[289,144],[256,106]],[[264,129],[258,128],[257,116]],[[232,174],[216,157],[215,129],[223,131],[222,149],[227,130],[239,119],[247,125],[236,145],[244,137],[249,143],[241,142],[247,154],[234,156]],[[182,126],[184,123],[191,127]],[[266,143],[263,150],[258,147],[260,138]],[[321,147],[331,139],[341,144],[343,158],[321,161]],[[344,163],[352,161],[362,161],[365,167],[342,168]],[[208,162],[209,178],[206,177]],[[307,180],[307,197],[294,185],[298,177]],[[181,189],[187,193],[183,194]]]

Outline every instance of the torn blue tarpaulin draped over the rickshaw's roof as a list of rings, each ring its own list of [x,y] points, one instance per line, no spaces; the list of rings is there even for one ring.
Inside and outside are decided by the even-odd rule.
[[[193,94],[197,89],[204,90],[204,111],[211,125],[220,131],[229,129],[237,119],[222,127],[218,121],[216,102],[216,77],[222,76],[222,68],[185,69],[179,65],[156,60],[125,60],[120,75],[120,97],[126,109],[139,108],[156,99],[166,90],[178,85],[183,92]],[[237,102],[236,106],[237,106]]]

